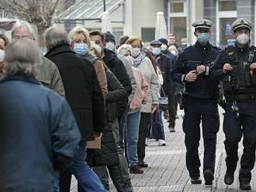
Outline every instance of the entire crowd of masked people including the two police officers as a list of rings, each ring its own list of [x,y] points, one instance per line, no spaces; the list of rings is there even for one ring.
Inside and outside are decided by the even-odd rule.
[[[163,117],[175,132],[178,102],[185,111],[191,183],[202,183],[202,122],[203,176],[212,185],[219,81],[226,98],[224,181],[234,182],[244,135],[240,189],[251,190],[256,146],[251,22],[233,23],[237,44],[223,51],[209,43],[212,22],[202,19],[192,26],[197,41],[188,48],[184,38],[178,46],[174,34],[146,47],[137,36],[122,36],[117,42],[109,32],[76,26],[67,33],[51,26],[44,33],[44,56],[28,22],[16,22],[11,41],[1,34],[0,191],[67,192],[74,175],[81,192],[109,191],[109,177],[117,191],[132,192],[130,174],[144,173],[149,166],[147,138],[166,145]]]

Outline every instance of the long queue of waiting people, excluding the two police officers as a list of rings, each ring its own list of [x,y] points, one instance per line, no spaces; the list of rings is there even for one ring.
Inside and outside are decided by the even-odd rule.
[[[148,125],[154,117],[163,124],[160,97],[169,100],[164,114],[175,132],[169,72],[177,53],[168,50],[168,39],[146,48],[139,37],[116,43],[112,33],[83,26],[69,33],[52,26],[44,39],[42,56],[28,22],[16,22],[10,41],[0,36],[0,87],[6,91],[0,190],[70,191],[74,175],[78,191],[107,191],[109,177],[117,191],[133,191],[130,173],[148,166],[146,139],[154,138]],[[15,94],[17,99],[7,99]],[[163,126],[158,132],[165,146]],[[10,135],[16,147],[8,151]]]

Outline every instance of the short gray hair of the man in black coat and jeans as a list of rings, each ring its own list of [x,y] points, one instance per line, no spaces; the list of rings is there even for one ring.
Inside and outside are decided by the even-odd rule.
[[[47,50],[51,50],[56,46],[69,44],[67,32],[64,29],[56,26],[51,26],[44,32],[45,42],[47,43]]]

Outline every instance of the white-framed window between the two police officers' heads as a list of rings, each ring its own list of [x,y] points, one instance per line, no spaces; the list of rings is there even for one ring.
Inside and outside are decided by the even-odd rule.
[[[237,1],[217,0],[216,2],[216,44],[234,44],[231,25],[237,19]]]

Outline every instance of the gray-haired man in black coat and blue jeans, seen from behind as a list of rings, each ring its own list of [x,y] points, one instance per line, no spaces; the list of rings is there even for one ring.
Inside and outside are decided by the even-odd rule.
[[[74,162],[69,167],[78,180],[81,191],[106,191],[86,163],[86,141],[99,139],[105,125],[105,102],[102,89],[92,63],[71,50],[67,33],[50,27],[45,32],[47,54],[45,57],[57,64],[71,105],[78,122],[82,141]]]

